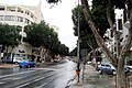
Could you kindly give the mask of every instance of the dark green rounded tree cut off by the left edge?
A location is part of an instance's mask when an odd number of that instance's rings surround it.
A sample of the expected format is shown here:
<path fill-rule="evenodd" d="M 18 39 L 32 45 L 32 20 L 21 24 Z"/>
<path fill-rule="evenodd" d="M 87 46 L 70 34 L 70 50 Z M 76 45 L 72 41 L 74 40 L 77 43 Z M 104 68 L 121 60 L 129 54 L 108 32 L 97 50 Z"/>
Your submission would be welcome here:
<path fill-rule="evenodd" d="M 0 45 L 2 45 L 2 51 L 6 50 L 6 53 L 11 53 L 8 51 L 19 45 L 19 40 L 21 35 L 19 35 L 19 26 L 9 25 L 9 24 L 0 24 Z"/>

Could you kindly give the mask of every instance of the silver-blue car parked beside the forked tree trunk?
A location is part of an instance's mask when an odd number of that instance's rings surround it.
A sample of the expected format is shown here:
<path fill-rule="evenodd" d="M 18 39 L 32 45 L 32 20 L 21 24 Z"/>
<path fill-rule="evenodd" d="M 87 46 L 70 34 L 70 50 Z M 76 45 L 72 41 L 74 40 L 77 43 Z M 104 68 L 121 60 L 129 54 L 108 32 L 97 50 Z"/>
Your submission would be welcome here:
<path fill-rule="evenodd" d="M 97 70 L 99 74 L 116 75 L 116 68 L 111 64 L 100 64 Z"/>

